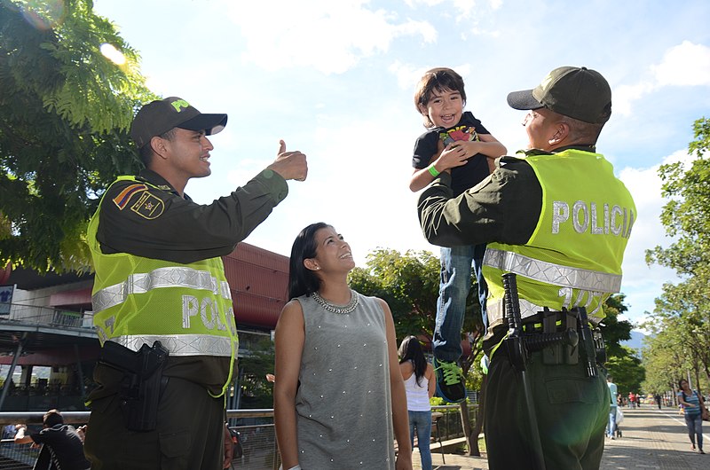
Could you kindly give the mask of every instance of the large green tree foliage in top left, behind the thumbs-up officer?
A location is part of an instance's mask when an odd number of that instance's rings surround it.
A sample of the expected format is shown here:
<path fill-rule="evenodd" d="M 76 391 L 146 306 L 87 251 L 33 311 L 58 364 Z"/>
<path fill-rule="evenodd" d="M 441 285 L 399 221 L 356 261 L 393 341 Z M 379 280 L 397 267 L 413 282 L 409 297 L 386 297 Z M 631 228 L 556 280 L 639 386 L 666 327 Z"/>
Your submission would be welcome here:
<path fill-rule="evenodd" d="M 136 51 L 92 6 L 0 0 L 1 266 L 84 268 L 100 193 L 139 167 L 128 129 L 155 97 Z M 107 59 L 102 44 L 125 62 Z"/>

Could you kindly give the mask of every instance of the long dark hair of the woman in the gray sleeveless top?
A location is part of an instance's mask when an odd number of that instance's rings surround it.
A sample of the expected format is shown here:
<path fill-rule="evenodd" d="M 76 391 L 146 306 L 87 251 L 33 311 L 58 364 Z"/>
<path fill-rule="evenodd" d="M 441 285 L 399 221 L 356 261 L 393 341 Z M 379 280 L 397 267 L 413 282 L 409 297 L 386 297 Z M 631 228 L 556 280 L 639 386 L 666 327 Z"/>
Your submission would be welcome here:
<path fill-rule="evenodd" d="M 312 223 L 296 237 L 288 262 L 289 299 L 318 291 L 320 278 L 312 270 L 306 269 L 304 260 L 316 256 L 316 232 L 330 226 L 324 222 Z"/>

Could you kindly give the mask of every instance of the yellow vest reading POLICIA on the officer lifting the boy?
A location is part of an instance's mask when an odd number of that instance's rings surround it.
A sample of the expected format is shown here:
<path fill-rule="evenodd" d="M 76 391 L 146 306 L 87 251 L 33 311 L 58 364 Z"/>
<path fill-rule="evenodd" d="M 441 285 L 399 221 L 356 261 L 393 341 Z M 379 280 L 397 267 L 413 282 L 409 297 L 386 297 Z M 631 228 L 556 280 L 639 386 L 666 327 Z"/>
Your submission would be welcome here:
<path fill-rule="evenodd" d="M 576 149 L 525 157 L 542 187 L 542 209 L 525 245 L 491 243 L 483 272 L 489 325 L 502 322 L 501 274 L 517 274 L 522 317 L 543 307 L 585 306 L 591 321 L 621 286 L 621 262 L 636 218 L 626 186 L 604 156 Z"/>

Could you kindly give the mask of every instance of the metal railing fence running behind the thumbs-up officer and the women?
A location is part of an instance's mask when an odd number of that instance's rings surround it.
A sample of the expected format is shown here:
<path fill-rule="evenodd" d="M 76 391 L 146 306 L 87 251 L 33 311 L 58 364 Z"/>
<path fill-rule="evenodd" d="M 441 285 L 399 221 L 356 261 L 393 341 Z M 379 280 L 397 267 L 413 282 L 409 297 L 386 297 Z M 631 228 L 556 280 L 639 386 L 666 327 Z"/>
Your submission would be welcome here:
<path fill-rule="evenodd" d="M 469 405 L 471 423 L 476 418 L 477 405 Z M 446 405 L 432 407 L 443 416 L 438 419 L 441 439 L 446 441 L 461 437 L 461 415 L 459 406 Z M 3 411 L 0 412 L 0 427 L 25 423 L 42 426 L 43 411 Z M 89 420 L 89 411 L 63 411 L 62 417 L 67 424 L 85 424 Z M 276 432 L 273 426 L 273 410 L 228 410 L 229 427 L 235 433 L 233 470 L 276 470 L 280 466 L 279 451 L 276 445 Z M 8 429 L 9 431 L 9 429 Z M 39 449 L 32 444 L 16 444 L 4 433 L 0 441 L 0 470 L 26 470 L 34 466 Z"/>

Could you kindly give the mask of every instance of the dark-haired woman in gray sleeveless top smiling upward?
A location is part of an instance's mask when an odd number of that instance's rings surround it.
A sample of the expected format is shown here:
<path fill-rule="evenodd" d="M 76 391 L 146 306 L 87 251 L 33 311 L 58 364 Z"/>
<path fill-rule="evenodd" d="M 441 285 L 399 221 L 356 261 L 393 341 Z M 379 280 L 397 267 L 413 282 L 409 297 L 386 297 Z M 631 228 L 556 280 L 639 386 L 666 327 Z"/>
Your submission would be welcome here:
<path fill-rule="evenodd" d="M 351 290 L 354 267 L 350 246 L 326 223 L 306 227 L 291 249 L 273 391 L 285 469 L 412 468 L 390 308 Z"/>

